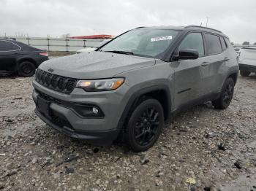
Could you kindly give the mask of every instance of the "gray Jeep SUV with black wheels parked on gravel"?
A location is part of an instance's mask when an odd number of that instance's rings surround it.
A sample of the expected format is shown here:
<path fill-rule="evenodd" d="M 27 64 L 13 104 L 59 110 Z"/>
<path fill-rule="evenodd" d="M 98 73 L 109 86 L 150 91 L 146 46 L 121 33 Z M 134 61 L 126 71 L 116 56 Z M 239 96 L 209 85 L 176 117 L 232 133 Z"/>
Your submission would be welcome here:
<path fill-rule="evenodd" d="M 141 152 L 182 109 L 204 101 L 226 109 L 237 77 L 236 52 L 222 32 L 140 27 L 95 52 L 45 61 L 33 98 L 36 114 L 62 133 L 97 144 L 120 138 Z"/>

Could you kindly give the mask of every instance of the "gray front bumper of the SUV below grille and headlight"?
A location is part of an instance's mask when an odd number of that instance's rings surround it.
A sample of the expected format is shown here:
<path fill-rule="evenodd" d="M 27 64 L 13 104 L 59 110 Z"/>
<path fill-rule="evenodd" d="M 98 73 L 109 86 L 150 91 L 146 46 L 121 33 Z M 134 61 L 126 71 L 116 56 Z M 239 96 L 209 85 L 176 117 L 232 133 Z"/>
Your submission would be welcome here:
<path fill-rule="evenodd" d="M 118 122 L 124 107 L 127 104 L 124 99 L 127 87 L 123 85 L 116 91 L 86 93 L 82 89 L 75 88 L 69 95 L 50 90 L 47 87 L 33 82 L 33 99 L 37 106 L 37 96 L 50 97 L 50 114 L 45 114 L 42 109 L 35 109 L 37 116 L 52 128 L 59 130 L 77 139 L 86 139 L 95 144 L 109 144 L 113 142 L 120 131 Z M 84 117 L 73 109 L 76 104 L 95 105 L 102 110 L 103 117 Z"/>

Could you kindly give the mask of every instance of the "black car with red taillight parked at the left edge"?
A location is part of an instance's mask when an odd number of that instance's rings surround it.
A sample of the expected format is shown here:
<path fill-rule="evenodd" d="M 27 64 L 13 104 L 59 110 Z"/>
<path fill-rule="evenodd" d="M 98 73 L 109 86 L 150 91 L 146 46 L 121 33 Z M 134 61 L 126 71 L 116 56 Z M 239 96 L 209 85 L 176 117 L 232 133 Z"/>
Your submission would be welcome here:
<path fill-rule="evenodd" d="M 37 67 L 48 60 L 48 52 L 13 39 L 0 39 L 0 74 L 34 75 Z"/>

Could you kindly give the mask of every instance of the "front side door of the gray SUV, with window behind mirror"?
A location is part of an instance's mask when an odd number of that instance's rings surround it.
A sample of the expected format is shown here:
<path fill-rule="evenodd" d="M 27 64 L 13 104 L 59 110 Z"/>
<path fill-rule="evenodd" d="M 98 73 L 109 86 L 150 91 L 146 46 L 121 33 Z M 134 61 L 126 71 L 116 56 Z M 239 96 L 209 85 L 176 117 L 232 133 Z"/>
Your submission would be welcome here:
<path fill-rule="evenodd" d="M 174 107 L 178 109 L 198 100 L 203 96 L 201 64 L 206 62 L 203 34 L 190 32 L 179 44 L 176 52 L 184 49 L 194 49 L 199 53 L 196 60 L 183 60 L 172 63 L 175 71 Z"/>

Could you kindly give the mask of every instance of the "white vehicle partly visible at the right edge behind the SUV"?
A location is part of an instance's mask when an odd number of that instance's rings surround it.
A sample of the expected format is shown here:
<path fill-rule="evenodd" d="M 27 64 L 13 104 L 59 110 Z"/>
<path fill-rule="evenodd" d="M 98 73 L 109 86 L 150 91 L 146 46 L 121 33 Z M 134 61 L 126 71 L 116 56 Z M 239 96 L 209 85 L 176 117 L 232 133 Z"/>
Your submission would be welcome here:
<path fill-rule="evenodd" d="M 242 77 L 248 77 L 251 72 L 256 72 L 256 47 L 241 48 L 238 63 Z"/>

